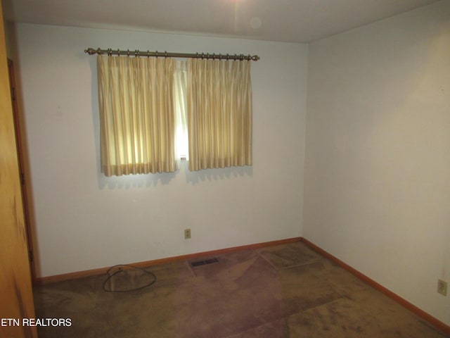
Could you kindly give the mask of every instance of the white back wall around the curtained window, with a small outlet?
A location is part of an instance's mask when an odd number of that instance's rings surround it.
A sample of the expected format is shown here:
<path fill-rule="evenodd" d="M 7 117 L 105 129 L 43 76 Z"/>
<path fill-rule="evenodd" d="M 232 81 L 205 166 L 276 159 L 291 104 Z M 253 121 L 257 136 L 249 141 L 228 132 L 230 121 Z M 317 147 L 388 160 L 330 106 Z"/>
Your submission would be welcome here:
<path fill-rule="evenodd" d="M 306 45 L 25 24 L 14 34 L 39 275 L 300 236 Z M 258 54 L 252 167 L 103 177 L 96 58 L 84 54 L 98 46 Z"/>

